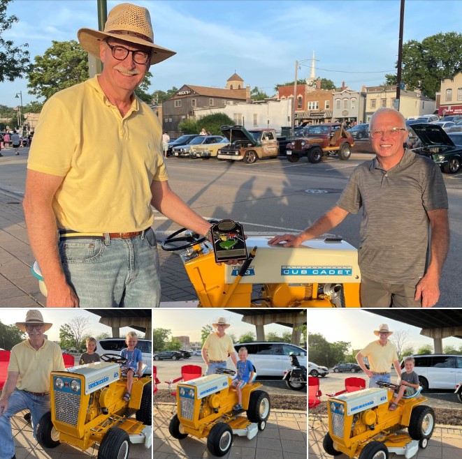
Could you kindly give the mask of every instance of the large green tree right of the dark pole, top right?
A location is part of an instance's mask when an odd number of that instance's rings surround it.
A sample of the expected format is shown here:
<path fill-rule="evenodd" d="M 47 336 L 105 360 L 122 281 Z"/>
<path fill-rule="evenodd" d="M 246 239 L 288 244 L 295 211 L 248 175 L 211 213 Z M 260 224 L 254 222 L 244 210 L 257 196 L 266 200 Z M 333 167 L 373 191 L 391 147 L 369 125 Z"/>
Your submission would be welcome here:
<path fill-rule="evenodd" d="M 409 40 L 403 45 L 401 80 L 406 89 L 420 89 L 435 98 L 441 80 L 462 70 L 462 33 L 446 32 Z M 396 75 L 385 75 L 387 84 L 396 83 Z"/>

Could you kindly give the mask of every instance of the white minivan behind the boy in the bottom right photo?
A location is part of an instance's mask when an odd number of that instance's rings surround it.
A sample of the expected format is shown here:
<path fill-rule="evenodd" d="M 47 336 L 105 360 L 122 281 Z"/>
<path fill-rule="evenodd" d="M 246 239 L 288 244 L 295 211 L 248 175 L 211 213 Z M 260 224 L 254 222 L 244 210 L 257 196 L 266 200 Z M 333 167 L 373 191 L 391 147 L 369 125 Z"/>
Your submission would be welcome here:
<path fill-rule="evenodd" d="M 456 354 L 413 355 L 414 372 L 427 389 L 452 389 L 462 382 L 462 356 Z M 405 358 L 404 358 L 405 359 Z M 404 368 L 404 359 L 401 368 Z"/>

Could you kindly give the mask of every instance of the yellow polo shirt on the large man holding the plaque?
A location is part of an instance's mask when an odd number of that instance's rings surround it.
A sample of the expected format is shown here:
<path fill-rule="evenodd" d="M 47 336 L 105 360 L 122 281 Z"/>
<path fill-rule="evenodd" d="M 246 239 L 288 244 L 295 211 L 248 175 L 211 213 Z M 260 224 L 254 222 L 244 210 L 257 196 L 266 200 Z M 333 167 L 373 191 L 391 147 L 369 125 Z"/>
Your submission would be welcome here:
<path fill-rule="evenodd" d="M 43 106 L 27 168 L 64 177 L 52 206 L 59 228 L 133 232 L 154 222 L 153 180 L 168 179 L 159 119 L 138 98 L 122 118 L 97 76 Z"/>

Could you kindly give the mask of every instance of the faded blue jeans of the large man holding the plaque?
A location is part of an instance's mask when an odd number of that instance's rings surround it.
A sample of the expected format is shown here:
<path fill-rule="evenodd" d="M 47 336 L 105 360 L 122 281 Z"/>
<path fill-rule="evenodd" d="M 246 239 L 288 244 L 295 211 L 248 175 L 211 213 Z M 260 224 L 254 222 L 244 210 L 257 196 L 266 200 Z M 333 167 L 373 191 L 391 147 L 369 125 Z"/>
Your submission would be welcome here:
<path fill-rule="evenodd" d="M 80 308 L 159 307 L 159 254 L 151 228 L 131 239 L 62 239 L 59 255 Z"/>

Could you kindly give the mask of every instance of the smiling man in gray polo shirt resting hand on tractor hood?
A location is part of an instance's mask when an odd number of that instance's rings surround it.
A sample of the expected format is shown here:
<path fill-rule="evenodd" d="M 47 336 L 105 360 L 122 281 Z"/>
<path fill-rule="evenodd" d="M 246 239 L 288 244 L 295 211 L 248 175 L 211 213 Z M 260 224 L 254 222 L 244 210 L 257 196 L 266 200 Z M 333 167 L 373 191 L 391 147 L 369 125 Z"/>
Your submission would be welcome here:
<path fill-rule="evenodd" d="M 268 243 L 297 246 L 329 232 L 362 207 L 361 306 L 430 308 L 440 296 L 449 246 L 441 171 L 430 158 L 404 149 L 407 130 L 397 110 L 377 110 L 369 128 L 377 156 L 356 167 L 333 209 L 300 234 L 276 236 Z"/>

